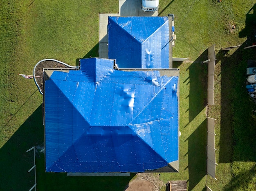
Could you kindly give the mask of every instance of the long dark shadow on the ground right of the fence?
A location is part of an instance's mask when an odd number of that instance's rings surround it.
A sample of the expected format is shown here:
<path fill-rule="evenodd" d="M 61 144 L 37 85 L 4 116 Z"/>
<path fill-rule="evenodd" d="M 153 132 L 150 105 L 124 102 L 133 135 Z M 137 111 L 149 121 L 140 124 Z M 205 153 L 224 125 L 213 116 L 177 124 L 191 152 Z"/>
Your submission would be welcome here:
<path fill-rule="evenodd" d="M 256 5 L 247 13 L 245 29 L 239 33 L 247 40 L 232 54 L 220 50 L 216 55 L 217 62 L 222 63 L 221 73 L 217 74 L 221 75 L 219 163 L 256 161 L 255 105 L 245 88 L 247 60 L 256 59 L 256 48 L 244 49 L 255 40 L 255 10 Z"/>

